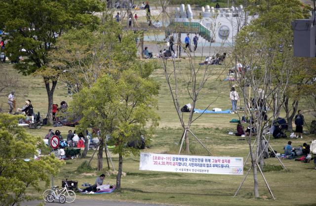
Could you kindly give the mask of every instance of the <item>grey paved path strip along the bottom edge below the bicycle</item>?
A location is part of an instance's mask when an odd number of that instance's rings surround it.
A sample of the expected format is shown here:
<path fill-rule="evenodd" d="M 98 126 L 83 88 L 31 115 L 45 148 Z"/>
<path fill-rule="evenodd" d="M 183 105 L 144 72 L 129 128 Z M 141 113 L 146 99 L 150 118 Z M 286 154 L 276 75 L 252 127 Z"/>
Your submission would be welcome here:
<path fill-rule="evenodd" d="M 32 201 L 22 203 L 21 206 L 37 206 L 39 203 L 44 201 Z M 71 204 L 73 206 L 163 206 L 163 205 L 153 205 L 153 204 L 141 204 L 141 203 L 124 203 L 124 202 L 114 202 L 114 201 L 99 201 L 99 200 L 82 200 L 76 199 L 73 203 L 65 203 L 67 205 Z M 53 203 L 45 203 L 45 206 L 60 206 L 58 200 Z"/>

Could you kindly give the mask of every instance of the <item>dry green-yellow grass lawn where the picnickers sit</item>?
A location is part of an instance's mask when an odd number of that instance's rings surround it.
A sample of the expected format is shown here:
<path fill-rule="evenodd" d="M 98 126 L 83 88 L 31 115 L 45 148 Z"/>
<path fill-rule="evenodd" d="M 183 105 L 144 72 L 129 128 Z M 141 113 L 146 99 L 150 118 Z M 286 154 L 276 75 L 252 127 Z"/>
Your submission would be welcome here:
<path fill-rule="evenodd" d="M 183 63 L 186 60 L 180 60 Z M 168 64 L 171 69 L 171 61 Z M 4 64 L 4 69 L 9 70 L 12 75 L 19 75 L 12 66 L 8 63 Z M 209 110 L 215 107 L 222 110 L 231 109 L 232 105 L 229 102 L 230 84 L 229 82 L 221 82 L 224 79 L 222 75 L 218 81 L 215 81 L 223 70 L 222 66 L 217 66 L 214 70 L 214 76 L 211 77 L 206 88 L 213 88 L 215 85 L 220 84 L 217 89 L 205 95 L 200 101 L 197 102 L 197 109 L 205 109 L 205 107 L 212 102 L 217 96 L 217 100 L 210 106 Z M 156 134 L 153 138 L 153 142 L 150 149 L 145 149 L 142 152 L 146 153 L 164 153 L 166 151 L 176 151 L 178 146 L 174 143 L 179 143 L 183 129 L 179 122 L 178 116 L 174 110 L 172 98 L 168 85 L 165 81 L 164 73 L 162 69 L 158 69 L 152 76 L 156 81 L 161 82 L 161 89 L 158 96 L 159 110 L 158 114 L 161 117 L 160 125 L 156 130 Z M 47 113 L 47 95 L 42 79 L 33 77 L 22 77 L 21 79 L 28 82 L 29 94 L 28 96 L 19 96 L 17 107 L 22 107 L 26 99 L 32 101 L 34 106 L 34 112 L 40 111 L 42 115 Z M 234 84 L 234 83 L 233 83 Z M 19 91 L 16 90 L 19 94 Z M 191 103 L 189 96 L 183 89 L 183 97 L 181 101 L 184 104 Z M 71 95 L 67 94 L 67 88 L 58 83 L 54 93 L 54 103 L 60 105 L 61 101 L 69 103 L 72 100 Z M 239 106 L 240 107 L 240 106 Z M 8 109 L 8 105 L 5 109 Z M 304 102 L 300 102 L 299 108 L 301 110 L 306 109 Z M 195 114 L 195 118 L 198 114 Z M 45 115 L 44 115 L 45 116 Z M 183 114 L 187 119 L 188 114 Z M 285 113 L 282 111 L 280 117 L 284 117 Z M 304 114 L 305 120 L 308 124 L 311 123 L 313 117 Z M 230 131 L 236 132 L 235 123 L 229 123 L 233 118 L 237 119 L 237 114 L 204 114 L 191 126 L 191 130 L 200 139 L 200 141 L 216 156 L 230 156 L 230 157 L 243 157 L 246 159 L 249 146 L 246 141 L 238 141 L 239 137 L 228 135 Z M 244 124 L 246 126 L 247 124 Z M 28 130 L 34 135 L 40 135 L 44 137 L 48 129 L 58 129 L 62 132 L 64 138 L 66 138 L 69 129 L 74 127 L 62 126 L 52 127 L 43 126 L 40 129 Z M 308 131 L 304 128 L 304 131 Z M 287 133 L 289 137 L 289 132 Z M 206 139 L 205 137 L 209 137 Z M 297 147 L 304 142 L 309 143 L 315 138 L 315 135 L 304 134 L 301 138 L 286 138 L 286 139 L 272 139 L 270 144 L 274 150 L 278 153 L 284 153 L 283 147 L 287 144 L 287 141 L 291 140 L 292 145 Z M 197 140 L 191 135 L 190 146 L 192 151 L 196 155 L 207 155 L 205 149 L 203 149 L 197 142 Z M 111 151 L 111 149 L 110 149 Z M 48 152 L 48 150 L 44 151 Z M 88 156 L 91 157 L 93 151 L 88 152 Z M 118 155 L 111 157 L 114 166 L 118 168 Z M 77 171 L 79 164 L 86 159 L 74 159 L 68 160 L 66 165 L 61 169 L 59 175 L 54 178 L 54 184 L 61 186 L 61 180 L 65 175 L 68 175 L 70 179 L 79 181 L 79 185 L 83 182 L 94 183 L 95 178 L 107 170 L 107 162 L 104 154 L 103 165 L 104 171 L 90 172 L 91 174 L 80 173 Z M 265 160 L 268 165 L 280 165 L 276 158 L 269 158 Z M 264 172 L 269 186 L 276 198 L 276 201 L 272 199 L 264 180 L 261 175 L 258 174 L 259 179 L 259 194 L 261 198 L 253 198 L 253 174 L 249 173 L 246 181 L 239 190 L 237 198 L 233 198 L 239 184 L 241 183 L 243 176 L 237 175 L 218 175 L 218 174 L 193 174 L 193 173 L 170 173 L 170 172 L 158 172 L 158 171 L 143 171 L 139 170 L 139 157 L 124 157 L 123 158 L 123 171 L 126 172 L 126 176 L 121 179 L 121 190 L 115 190 L 111 194 L 99 194 L 99 195 L 82 195 L 77 193 L 78 199 L 90 199 L 90 200 L 107 200 L 107 201 L 119 201 L 119 202 L 134 202 L 134 203 L 146 203 L 146 204 L 162 204 L 162 205 L 185 205 L 185 206 L 209 206 L 209 205 L 304 205 L 312 206 L 316 205 L 315 199 L 315 182 L 316 182 L 316 170 L 314 164 L 304 164 L 302 162 L 296 162 L 294 160 L 282 160 L 282 163 L 286 166 L 288 171 L 269 171 Z M 97 166 L 97 157 L 93 158 L 91 165 L 93 168 Z M 110 163 L 111 165 L 111 163 Z M 250 167 L 250 163 L 246 164 L 244 170 Z M 105 180 L 110 181 L 110 184 L 116 184 L 116 176 L 109 175 Z M 81 186 L 80 186 L 81 187 Z M 42 185 L 43 191 L 47 188 Z M 35 194 L 29 190 L 28 193 Z"/>

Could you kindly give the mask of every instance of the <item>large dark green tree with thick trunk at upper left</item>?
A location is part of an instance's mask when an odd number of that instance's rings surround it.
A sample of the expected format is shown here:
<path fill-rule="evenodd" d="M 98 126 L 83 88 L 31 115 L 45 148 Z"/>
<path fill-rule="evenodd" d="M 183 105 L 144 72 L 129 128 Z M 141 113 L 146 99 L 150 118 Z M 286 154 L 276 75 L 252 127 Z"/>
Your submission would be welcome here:
<path fill-rule="evenodd" d="M 14 68 L 23 75 L 43 78 L 48 96 L 48 120 L 52 123 L 53 94 L 59 71 L 47 69 L 48 52 L 62 35 L 72 28 L 88 25 L 95 29 L 100 23 L 94 12 L 103 11 L 106 4 L 99 0 L 2 0 L 0 28 L 9 35 L 5 51 L 10 59 L 28 56 Z M 26 51 L 22 51 L 24 48 Z"/>

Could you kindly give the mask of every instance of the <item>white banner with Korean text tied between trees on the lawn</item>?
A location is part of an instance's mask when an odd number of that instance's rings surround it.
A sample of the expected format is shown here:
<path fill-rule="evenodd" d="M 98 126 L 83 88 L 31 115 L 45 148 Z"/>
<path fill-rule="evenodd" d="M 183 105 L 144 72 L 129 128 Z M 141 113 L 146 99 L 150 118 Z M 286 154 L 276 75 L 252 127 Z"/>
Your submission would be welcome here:
<path fill-rule="evenodd" d="M 140 153 L 139 170 L 243 175 L 243 158 Z"/>

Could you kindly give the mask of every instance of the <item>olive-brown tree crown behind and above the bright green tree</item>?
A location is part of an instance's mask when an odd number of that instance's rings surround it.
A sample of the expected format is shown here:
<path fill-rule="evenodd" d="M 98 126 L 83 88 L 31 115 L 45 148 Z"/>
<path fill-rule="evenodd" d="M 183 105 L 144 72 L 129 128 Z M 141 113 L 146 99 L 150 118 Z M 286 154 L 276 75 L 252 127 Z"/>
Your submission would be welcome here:
<path fill-rule="evenodd" d="M 79 93 L 83 87 L 91 87 L 104 74 L 117 76 L 121 70 L 130 68 L 136 58 L 135 39 L 139 34 L 123 34 L 111 12 L 103 18 L 105 21 L 97 30 L 70 30 L 57 40 L 57 49 L 49 53 L 49 67 L 63 71 L 55 78 L 73 93 Z M 87 151 L 88 141 L 85 141 L 82 157 Z"/>

